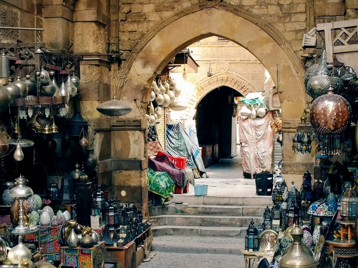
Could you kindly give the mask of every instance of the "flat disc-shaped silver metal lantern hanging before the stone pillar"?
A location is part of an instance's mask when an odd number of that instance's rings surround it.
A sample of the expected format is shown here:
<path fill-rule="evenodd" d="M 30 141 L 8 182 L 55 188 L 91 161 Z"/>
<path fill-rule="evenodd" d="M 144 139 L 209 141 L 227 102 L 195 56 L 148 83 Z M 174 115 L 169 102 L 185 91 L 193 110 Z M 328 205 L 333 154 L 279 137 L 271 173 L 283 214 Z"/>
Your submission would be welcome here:
<path fill-rule="evenodd" d="M 132 110 L 133 107 L 126 97 L 117 100 L 117 97 L 114 96 L 112 100 L 107 100 L 97 106 L 97 111 L 108 116 L 123 116 L 129 114 Z"/>

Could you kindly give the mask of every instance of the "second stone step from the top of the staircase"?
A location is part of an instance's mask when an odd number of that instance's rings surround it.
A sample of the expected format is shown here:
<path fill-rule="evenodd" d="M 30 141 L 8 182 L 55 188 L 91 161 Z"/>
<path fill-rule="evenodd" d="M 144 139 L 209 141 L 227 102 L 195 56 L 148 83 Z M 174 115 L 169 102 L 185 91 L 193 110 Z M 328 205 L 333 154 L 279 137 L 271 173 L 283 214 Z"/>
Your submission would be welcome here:
<path fill-rule="evenodd" d="M 149 215 L 183 214 L 183 215 L 226 215 L 226 216 L 262 216 L 266 206 L 230 206 L 170 204 L 149 207 Z"/>

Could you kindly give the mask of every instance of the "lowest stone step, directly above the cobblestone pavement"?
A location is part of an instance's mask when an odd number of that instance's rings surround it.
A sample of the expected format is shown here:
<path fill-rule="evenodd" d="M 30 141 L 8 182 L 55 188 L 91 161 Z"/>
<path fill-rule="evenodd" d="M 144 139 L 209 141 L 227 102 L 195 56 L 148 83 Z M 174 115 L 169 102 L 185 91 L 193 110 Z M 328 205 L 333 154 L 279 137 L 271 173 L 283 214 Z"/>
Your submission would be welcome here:
<path fill-rule="evenodd" d="M 173 253 L 210 253 L 243 255 L 245 238 L 238 237 L 201 237 L 172 236 L 156 237 L 152 243 L 152 251 Z"/>

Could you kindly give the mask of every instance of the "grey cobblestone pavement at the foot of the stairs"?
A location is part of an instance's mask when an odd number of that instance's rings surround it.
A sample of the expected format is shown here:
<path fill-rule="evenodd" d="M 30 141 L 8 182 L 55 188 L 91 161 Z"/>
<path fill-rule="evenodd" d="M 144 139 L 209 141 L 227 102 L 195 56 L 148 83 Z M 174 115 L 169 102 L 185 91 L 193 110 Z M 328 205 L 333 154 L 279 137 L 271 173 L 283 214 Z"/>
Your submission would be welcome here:
<path fill-rule="evenodd" d="M 243 255 L 157 252 L 140 268 L 243 268 Z"/>

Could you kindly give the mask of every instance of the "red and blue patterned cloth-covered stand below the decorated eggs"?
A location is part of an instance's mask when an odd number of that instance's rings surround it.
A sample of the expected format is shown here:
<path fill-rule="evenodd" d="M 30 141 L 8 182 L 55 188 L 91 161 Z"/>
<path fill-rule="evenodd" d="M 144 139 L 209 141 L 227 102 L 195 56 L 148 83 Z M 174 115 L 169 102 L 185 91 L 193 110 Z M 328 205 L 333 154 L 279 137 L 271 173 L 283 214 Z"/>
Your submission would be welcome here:
<path fill-rule="evenodd" d="M 47 256 L 49 260 L 60 260 L 61 245 L 58 242 L 59 226 L 39 226 L 39 229 L 44 256 Z M 25 241 L 38 242 L 37 234 L 26 234 Z"/>

